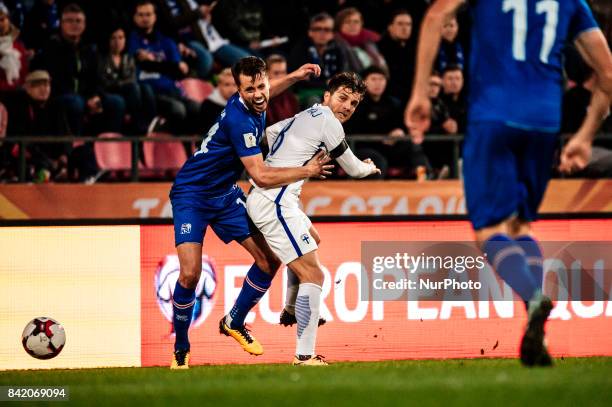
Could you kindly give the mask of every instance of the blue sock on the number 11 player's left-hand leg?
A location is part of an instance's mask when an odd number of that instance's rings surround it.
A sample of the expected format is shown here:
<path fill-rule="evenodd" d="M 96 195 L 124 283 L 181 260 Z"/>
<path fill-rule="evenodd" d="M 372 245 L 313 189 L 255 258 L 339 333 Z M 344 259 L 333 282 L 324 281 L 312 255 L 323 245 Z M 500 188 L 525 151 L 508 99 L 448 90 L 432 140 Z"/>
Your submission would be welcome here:
<path fill-rule="evenodd" d="M 541 283 L 536 283 L 531 274 L 527 265 L 527 256 L 521 244 L 508 235 L 496 234 L 483 244 L 482 249 L 497 274 L 527 304 Z"/>

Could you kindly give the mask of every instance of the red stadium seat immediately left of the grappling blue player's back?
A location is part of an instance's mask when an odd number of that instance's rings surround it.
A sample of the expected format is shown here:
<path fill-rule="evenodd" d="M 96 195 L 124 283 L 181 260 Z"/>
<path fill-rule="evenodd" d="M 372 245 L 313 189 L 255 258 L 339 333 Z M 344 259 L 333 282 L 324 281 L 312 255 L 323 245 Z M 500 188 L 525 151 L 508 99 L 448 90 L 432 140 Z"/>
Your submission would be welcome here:
<path fill-rule="evenodd" d="M 169 141 L 145 141 L 142 143 L 146 169 L 156 172 L 178 171 L 187 161 L 183 143 L 173 140 L 170 134 L 150 133 L 148 137 L 165 138 Z"/>

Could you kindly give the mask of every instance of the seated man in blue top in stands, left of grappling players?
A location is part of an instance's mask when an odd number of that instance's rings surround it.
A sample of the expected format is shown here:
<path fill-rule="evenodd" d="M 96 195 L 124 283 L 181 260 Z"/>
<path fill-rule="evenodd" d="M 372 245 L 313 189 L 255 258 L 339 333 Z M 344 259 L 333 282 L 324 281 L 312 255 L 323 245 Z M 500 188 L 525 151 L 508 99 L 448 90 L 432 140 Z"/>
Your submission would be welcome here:
<path fill-rule="evenodd" d="M 189 72 L 189 67 L 181 61 L 176 43 L 155 29 L 156 21 L 153 2 L 139 1 L 134 12 L 136 28 L 128 41 L 128 51 L 136 59 L 137 78 L 155 92 L 157 111 L 168 119 L 171 131 L 197 132 L 200 105 L 186 98 L 176 82 Z"/>

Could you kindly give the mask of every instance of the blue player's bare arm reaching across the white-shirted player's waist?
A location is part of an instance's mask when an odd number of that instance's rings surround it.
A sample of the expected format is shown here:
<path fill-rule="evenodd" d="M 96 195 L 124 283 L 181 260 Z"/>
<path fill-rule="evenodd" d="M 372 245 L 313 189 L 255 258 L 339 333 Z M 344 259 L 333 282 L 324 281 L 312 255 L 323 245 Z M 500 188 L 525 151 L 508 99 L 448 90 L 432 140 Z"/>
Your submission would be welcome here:
<path fill-rule="evenodd" d="M 306 178 L 325 179 L 331 174 L 332 164 L 324 151 L 320 151 L 302 167 L 268 167 L 261 154 L 241 157 L 242 163 L 255 184 L 261 188 L 274 188 L 288 185 Z"/>

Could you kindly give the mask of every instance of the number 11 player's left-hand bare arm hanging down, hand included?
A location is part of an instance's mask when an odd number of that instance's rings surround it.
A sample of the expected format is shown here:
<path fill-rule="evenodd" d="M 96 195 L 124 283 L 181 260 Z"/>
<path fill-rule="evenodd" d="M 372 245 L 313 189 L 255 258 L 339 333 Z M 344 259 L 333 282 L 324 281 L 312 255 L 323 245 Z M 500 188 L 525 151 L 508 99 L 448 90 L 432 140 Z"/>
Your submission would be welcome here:
<path fill-rule="evenodd" d="M 421 135 L 429 128 L 431 103 L 429 101 L 429 77 L 438 55 L 442 26 L 453 15 L 464 0 L 437 0 L 429 8 L 419 35 L 417 67 L 410 102 L 404 120 L 411 135 Z"/>

